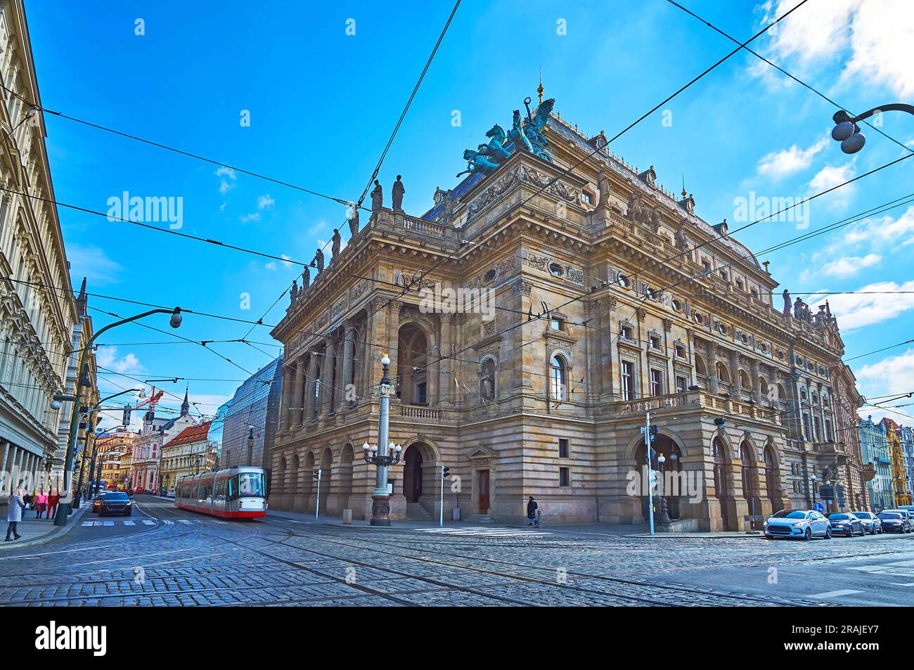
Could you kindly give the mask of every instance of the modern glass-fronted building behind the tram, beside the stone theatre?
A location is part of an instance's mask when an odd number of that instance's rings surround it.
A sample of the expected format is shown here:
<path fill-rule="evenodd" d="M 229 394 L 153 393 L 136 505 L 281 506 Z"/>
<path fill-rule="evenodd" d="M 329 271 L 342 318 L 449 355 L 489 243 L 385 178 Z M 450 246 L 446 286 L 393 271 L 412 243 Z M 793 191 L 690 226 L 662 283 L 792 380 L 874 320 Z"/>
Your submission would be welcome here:
<path fill-rule="evenodd" d="M 251 375 L 232 399 L 219 408 L 208 435 L 213 448 L 218 448 L 218 467 L 261 467 L 267 471 L 267 481 L 270 481 L 271 449 L 279 421 L 281 387 L 282 356 L 279 356 Z M 254 439 L 249 447 L 250 434 Z"/>

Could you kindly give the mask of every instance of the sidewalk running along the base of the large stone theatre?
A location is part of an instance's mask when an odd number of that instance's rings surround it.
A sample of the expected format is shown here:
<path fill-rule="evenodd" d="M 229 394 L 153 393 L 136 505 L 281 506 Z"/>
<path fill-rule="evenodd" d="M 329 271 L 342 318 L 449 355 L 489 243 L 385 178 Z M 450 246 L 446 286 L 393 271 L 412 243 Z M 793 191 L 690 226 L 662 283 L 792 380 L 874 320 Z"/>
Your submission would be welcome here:
<path fill-rule="evenodd" d="M 338 516 L 321 516 L 314 519 L 314 512 L 303 514 L 301 512 L 282 512 L 279 510 L 268 510 L 267 516 L 289 519 L 303 524 L 319 524 L 322 526 L 351 526 L 363 528 L 375 528 L 377 530 L 420 530 L 425 528 L 437 528 L 438 520 L 432 521 L 393 521 L 390 526 L 371 526 L 367 519 L 353 519 L 351 524 L 344 524 Z M 445 528 L 491 528 L 493 530 L 504 530 L 505 528 L 529 528 L 530 530 L 544 531 L 548 533 L 567 533 L 571 535 L 596 535 L 604 537 L 651 537 L 650 529 L 647 524 L 556 524 L 555 526 L 544 523 L 541 526 L 527 526 L 526 523 L 518 522 L 516 524 L 498 523 L 480 524 L 469 521 L 448 521 L 444 522 Z M 758 535 L 748 535 L 746 533 L 656 533 L 658 539 L 667 538 L 698 538 L 698 539 L 764 539 L 761 533 Z"/>

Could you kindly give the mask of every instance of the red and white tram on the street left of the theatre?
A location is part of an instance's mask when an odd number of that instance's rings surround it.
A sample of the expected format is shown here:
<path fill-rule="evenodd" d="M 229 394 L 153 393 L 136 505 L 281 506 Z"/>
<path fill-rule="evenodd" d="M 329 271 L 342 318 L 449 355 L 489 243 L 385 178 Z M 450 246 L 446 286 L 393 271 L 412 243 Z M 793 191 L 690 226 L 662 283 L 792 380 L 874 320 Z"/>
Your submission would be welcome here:
<path fill-rule="evenodd" d="M 267 512 L 267 477 L 260 468 L 186 474 L 175 486 L 175 507 L 226 518 L 256 518 Z"/>

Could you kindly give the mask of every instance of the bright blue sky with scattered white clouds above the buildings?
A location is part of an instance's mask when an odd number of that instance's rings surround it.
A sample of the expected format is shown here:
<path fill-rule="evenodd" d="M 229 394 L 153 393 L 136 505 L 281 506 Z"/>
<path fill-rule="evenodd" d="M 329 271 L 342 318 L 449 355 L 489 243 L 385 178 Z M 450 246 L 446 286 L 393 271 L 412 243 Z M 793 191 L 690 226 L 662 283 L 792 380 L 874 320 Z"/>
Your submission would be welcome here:
<path fill-rule="evenodd" d="M 781 16 L 796 2 L 683 4 L 744 40 L 770 22 L 766 16 Z M 27 1 L 48 109 L 346 199 L 367 183 L 451 9 L 447 2 L 395 9 L 369 2 Z M 134 34 L 138 18 L 142 36 Z M 355 20 L 354 36 L 346 35 L 348 19 Z M 526 96 L 536 96 L 540 67 L 546 95 L 557 99 L 563 119 L 611 137 L 735 46 L 664 0 L 464 0 L 381 169 L 386 198 L 401 174 L 407 211 L 430 207 L 435 187 L 452 186 L 463 169 L 462 150 L 494 122 L 505 126 Z M 777 34 L 752 46 L 851 111 L 914 102 L 914 10 L 904 0 L 809 0 Z M 240 123 L 244 110 L 250 127 Z M 459 126 L 452 124 L 455 110 Z M 642 169 L 654 165 L 658 181 L 674 192 L 685 177 L 699 216 L 739 226 L 735 198 L 805 197 L 906 153 L 865 129 L 864 150 L 842 154 L 828 139 L 834 111 L 742 52 L 611 150 Z M 298 261 L 310 261 L 315 246 L 344 224 L 344 207 L 331 201 L 248 175 L 217 174 L 214 165 L 45 118 L 61 202 L 106 211 L 108 199 L 123 191 L 181 197 L 182 231 Z M 914 118 L 889 112 L 880 122 L 884 132 L 914 146 Z M 806 229 L 796 221 L 767 222 L 738 238 L 752 250 L 773 246 L 914 192 L 912 175 L 914 159 L 814 201 Z M 830 297 L 847 356 L 910 337 L 914 293 L 899 292 L 914 292 L 907 262 L 914 208 L 908 207 L 760 256 L 794 294 L 879 291 Z M 88 276 L 90 292 L 256 320 L 301 271 L 66 208 L 59 214 L 73 282 Z M 347 237 L 345 225 L 341 232 Z M 250 294 L 250 309 L 242 308 L 242 293 Z M 265 321 L 277 323 L 287 303 L 283 298 Z M 137 311 L 99 298 L 90 304 L 122 315 Z M 99 327 L 112 317 L 95 312 L 93 318 Z M 168 329 L 166 317 L 145 323 Z M 179 333 L 214 340 L 247 331 L 244 324 L 188 316 Z M 214 413 L 247 375 L 200 346 L 136 344 L 170 339 L 123 326 L 102 338 L 117 346 L 101 348 L 101 364 L 140 378 L 212 379 L 189 384 L 198 408 Z M 271 341 L 267 328 L 250 339 Z M 243 344 L 210 348 L 251 372 L 279 352 Z M 870 397 L 914 390 L 914 347 L 858 358 L 852 367 Z M 103 388 L 133 384 L 105 379 Z M 185 383 L 164 388 L 183 395 Z"/>

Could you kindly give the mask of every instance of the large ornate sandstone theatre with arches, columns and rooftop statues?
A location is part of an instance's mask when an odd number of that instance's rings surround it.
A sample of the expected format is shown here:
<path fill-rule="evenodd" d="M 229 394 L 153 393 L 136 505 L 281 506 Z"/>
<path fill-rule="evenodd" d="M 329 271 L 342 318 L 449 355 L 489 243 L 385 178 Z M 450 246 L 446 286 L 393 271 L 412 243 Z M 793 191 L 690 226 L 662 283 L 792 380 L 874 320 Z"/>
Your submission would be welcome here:
<path fill-rule="evenodd" d="M 272 331 L 271 507 L 313 512 L 320 469 L 322 514 L 371 515 L 362 444 L 377 444 L 385 354 L 395 520 L 437 518 L 446 465 L 448 519 L 517 521 L 533 495 L 544 521 L 643 523 L 648 414 L 667 529 L 743 530 L 822 502 L 822 486 L 829 509 L 866 505 L 847 418 L 860 399 L 833 388 L 853 375 L 827 305 L 792 303 L 726 220 L 698 218 L 552 104 L 494 126 L 420 216 L 399 176 L 389 207 L 376 186 L 345 249 L 337 235 L 293 285 Z"/>

